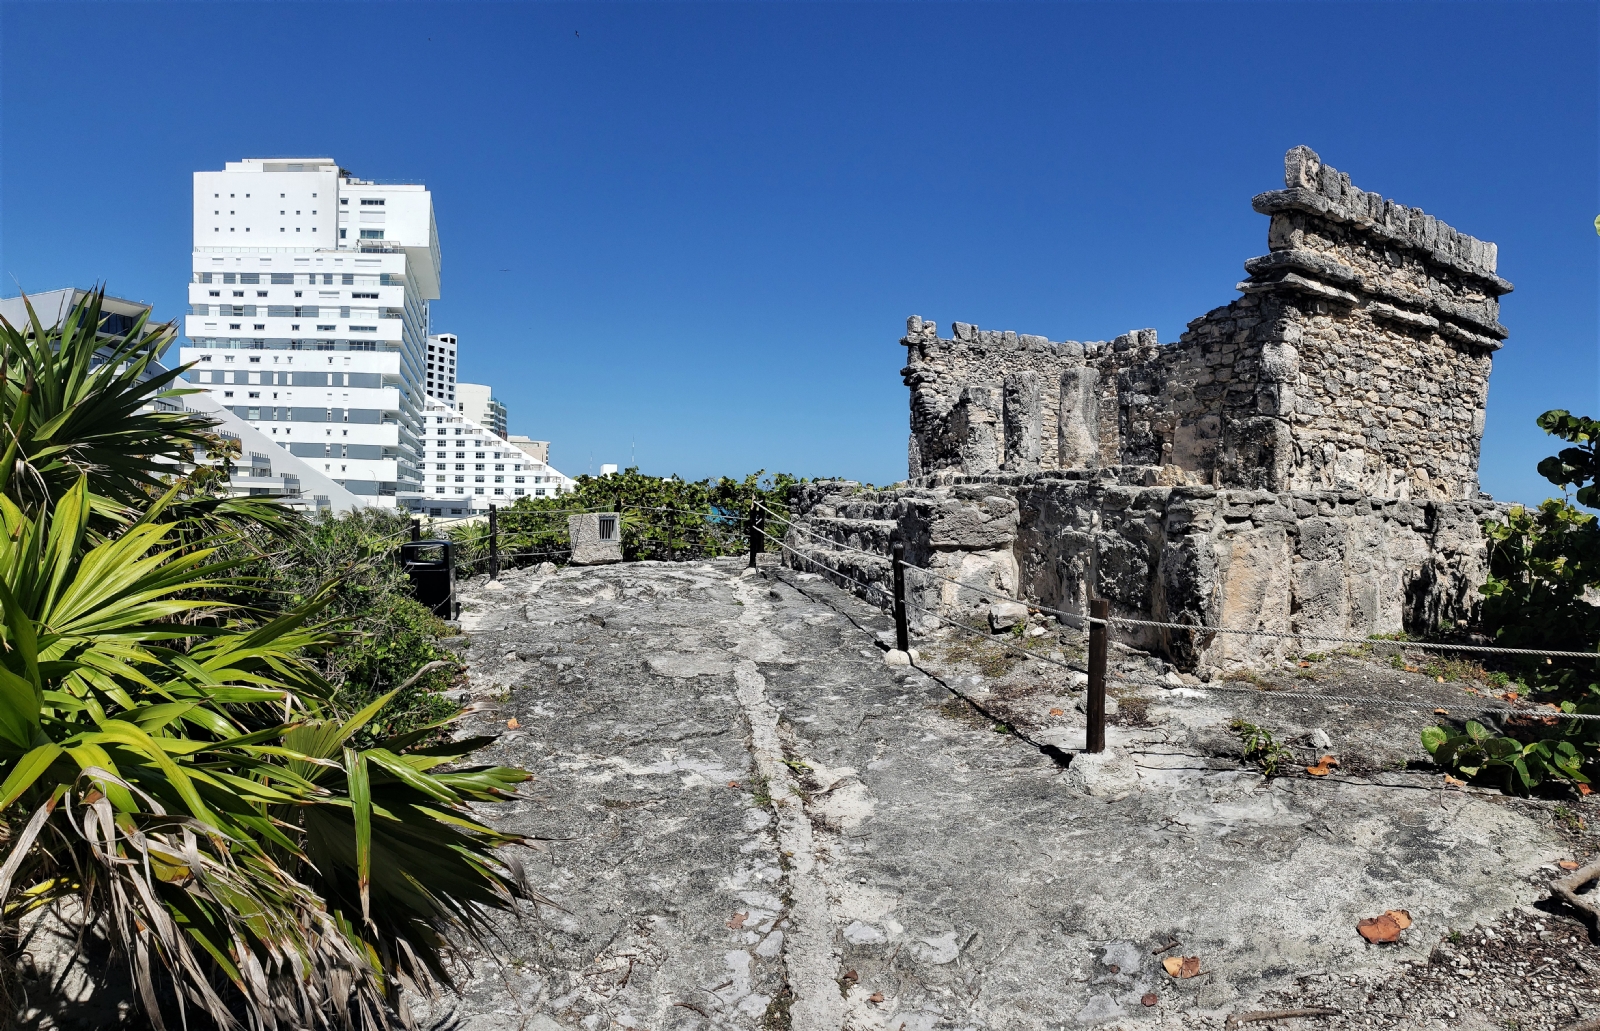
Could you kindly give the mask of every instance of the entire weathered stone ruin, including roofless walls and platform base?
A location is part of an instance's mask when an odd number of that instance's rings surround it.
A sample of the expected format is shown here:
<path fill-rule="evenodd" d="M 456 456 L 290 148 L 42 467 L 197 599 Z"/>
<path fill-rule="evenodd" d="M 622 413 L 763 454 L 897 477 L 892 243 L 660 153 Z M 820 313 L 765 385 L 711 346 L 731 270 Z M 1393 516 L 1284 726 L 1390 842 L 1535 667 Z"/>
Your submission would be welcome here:
<path fill-rule="evenodd" d="M 909 480 L 797 488 L 800 564 L 888 583 L 923 626 L 971 588 L 1086 612 L 1365 637 L 1466 620 L 1486 573 L 1478 491 L 1490 363 L 1507 336 L 1496 247 L 1368 194 L 1309 147 L 1259 194 L 1242 296 L 1114 341 L 906 323 Z M 843 548 L 840 548 L 843 546 Z M 869 556 L 848 549 L 862 549 Z M 1181 668 L 1314 640 L 1147 629 Z"/>

